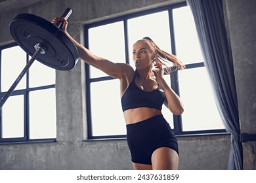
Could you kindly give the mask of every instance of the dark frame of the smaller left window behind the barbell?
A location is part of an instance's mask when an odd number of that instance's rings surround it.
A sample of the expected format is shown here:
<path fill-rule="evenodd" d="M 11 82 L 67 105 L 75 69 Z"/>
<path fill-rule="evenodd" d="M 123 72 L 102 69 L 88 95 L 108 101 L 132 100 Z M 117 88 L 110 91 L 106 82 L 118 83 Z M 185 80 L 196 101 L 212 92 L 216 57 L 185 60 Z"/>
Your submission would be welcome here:
<path fill-rule="evenodd" d="M 12 48 L 14 46 L 18 46 L 16 42 L 13 42 L 11 44 L 0 46 L 0 89 L 1 89 L 1 59 L 2 59 L 2 50 Z M 25 51 L 24 51 L 25 52 Z M 26 63 L 28 63 L 30 59 L 30 56 L 26 53 Z M 21 71 L 20 71 L 21 72 Z M 10 143 L 28 143 L 28 142 L 56 142 L 56 138 L 49 138 L 49 139 L 30 139 L 30 92 L 33 91 L 39 91 L 39 90 L 45 90 L 45 89 L 51 89 L 55 88 L 55 84 L 49 84 L 45 86 L 36 86 L 30 88 L 29 82 L 30 82 L 30 71 L 28 71 L 23 78 L 26 78 L 26 88 L 21 90 L 15 90 L 12 92 L 11 96 L 15 95 L 23 95 L 24 97 L 24 137 L 13 137 L 13 138 L 3 138 L 2 134 L 2 110 L 0 110 L 0 144 L 10 144 Z M 18 75 L 17 75 L 18 77 Z M 13 80 L 14 82 L 14 80 Z M 9 89 L 8 89 L 9 90 Z M 7 91 L 8 91 L 7 90 Z M 7 92 L 2 92 L 0 90 L 0 99 L 5 95 Z M 7 99 L 8 100 L 8 99 Z"/>

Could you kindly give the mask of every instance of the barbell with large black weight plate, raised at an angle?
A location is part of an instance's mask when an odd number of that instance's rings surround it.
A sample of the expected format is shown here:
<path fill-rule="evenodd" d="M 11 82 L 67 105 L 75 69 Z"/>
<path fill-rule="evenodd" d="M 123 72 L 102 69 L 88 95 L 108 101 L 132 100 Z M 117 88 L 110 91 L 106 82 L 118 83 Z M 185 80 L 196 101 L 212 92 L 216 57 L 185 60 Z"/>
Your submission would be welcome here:
<path fill-rule="evenodd" d="M 70 14 L 72 9 L 67 7 L 58 18 L 64 17 L 67 20 Z M 32 58 L 1 99 L 0 110 L 35 59 L 61 71 L 74 68 L 79 59 L 78 51 L 75 44 L 62 31 L 62 24 L 60 20 L 52 24 L 44 18 L 27 13 L 18 14 L 11 21 L 10 32 L 14 41 Z"/>

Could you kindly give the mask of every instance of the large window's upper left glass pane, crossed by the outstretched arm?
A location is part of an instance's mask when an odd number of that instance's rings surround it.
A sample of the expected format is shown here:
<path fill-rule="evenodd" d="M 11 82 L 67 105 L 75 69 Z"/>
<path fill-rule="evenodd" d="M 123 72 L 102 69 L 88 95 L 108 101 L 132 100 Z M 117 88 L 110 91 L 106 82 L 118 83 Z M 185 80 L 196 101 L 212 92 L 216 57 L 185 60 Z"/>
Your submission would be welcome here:
<path fill-rule="evenodd" d="M 89 29 L 89 50 L 96 56 L 112 62 L 125 63 L 125 39 L 123 22 L 101 25 Z M 90 77 L 107 76 L 90 66 Z"/>

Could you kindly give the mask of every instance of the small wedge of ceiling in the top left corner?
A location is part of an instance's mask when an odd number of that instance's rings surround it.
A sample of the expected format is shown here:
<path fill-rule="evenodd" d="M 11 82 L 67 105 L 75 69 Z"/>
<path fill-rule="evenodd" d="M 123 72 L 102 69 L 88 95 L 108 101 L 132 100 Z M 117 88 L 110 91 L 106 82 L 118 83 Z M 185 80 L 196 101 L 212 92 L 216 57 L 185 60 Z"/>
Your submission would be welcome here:
<path fill-rule="evenodd" d="M 43 0 L 0 0 L 0 12 L 26 7 Z"/>

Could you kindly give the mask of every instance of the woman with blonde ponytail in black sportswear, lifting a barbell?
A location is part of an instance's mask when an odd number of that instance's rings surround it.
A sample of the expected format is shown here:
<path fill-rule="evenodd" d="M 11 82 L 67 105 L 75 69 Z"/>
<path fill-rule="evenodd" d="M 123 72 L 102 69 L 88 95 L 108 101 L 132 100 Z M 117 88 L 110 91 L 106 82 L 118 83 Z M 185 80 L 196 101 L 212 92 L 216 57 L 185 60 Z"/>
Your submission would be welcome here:
<path fill-rule="evenodd" d="M 180 115 L 183 112 L 180 97 L 163 79 L 163 73 L 168 72 L 163 69 L 168 60 L 184 69 L 181 61 L 163 52 L 151 39 L 144 38 L 133 45 L 134 71 L 133 67 L 125 63 L 112 63 L 95 56 L 68 34 L 68 22 L 64 18 L 60 20 L 63 22 L 64 33 L 77 46 L 79 58 L 120 80 L 121 105 L 133 168 L 178 169 L 177 139 L 163 118 L 161 107 L 165 103 L 173 114 Z M 53 24 L 56 21 L 57 18 L 54 18 Z M 152 70 L 153 66 L 156 70 Z"/>

